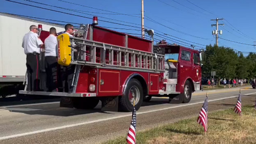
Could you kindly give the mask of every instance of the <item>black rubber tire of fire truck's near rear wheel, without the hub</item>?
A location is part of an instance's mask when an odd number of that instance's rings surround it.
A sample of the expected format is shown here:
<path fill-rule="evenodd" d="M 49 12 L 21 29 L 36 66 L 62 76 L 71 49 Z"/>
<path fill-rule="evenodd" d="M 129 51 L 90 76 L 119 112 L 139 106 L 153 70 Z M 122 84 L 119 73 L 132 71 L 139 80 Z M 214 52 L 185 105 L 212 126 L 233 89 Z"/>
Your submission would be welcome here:
<path fill-rule="evenodd" d="M 129 100 L 129 93 L 130 93 L 131 88 L 137 89 L 136 91 L 139 94 L 139 96 L 137 96 L 139 99 L 137 100 L 137 102 L 135 101 L 135 109 L 139 110 L 139 108 L 143 102 L 142 85 L 140 84 L 140 82 L 137 79 L 131 79 L 128 82 L 128 84 L 126 85 L 126 91 L 125 91 L 124 95 L 121 96 L 121 98 L 120 98 L 120 108 L 124 112 L 132 112 L 133 111 L 133 104 Z M 135 95 L 135 97 L 136 97 L 136 95 Z M 136 100 L 136 98 L 135 98 L 135 100 Z"/>

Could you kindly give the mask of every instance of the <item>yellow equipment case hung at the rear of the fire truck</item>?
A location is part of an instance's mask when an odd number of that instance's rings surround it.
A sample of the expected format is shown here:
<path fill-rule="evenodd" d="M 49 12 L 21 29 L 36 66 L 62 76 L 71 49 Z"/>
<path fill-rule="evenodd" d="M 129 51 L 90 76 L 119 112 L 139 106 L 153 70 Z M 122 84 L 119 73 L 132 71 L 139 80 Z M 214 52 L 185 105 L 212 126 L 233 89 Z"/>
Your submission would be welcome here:
<path fill-rule="evenodd" d="M 57 37 L 58 46 L 58 64 L 69 66 L 71 63 L 71 44 L 68 34 L 60 34 Z"/>

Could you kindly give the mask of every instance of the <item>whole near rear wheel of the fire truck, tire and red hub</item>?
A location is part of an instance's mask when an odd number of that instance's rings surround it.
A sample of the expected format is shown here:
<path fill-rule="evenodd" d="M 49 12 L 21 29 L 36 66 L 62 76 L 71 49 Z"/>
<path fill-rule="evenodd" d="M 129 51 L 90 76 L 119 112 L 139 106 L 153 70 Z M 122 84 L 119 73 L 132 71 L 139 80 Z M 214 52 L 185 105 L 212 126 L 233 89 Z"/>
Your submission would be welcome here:
<path fill-rule="evenodd" d="M 139 110 L 143 102 L 143 89 L 137 79 L 131 79 L 126 85 L 126 91 L 120 98 L 121 109 L 125 112 L 132 112 L 133 100 L 135 100 L 135 109 Z"/>

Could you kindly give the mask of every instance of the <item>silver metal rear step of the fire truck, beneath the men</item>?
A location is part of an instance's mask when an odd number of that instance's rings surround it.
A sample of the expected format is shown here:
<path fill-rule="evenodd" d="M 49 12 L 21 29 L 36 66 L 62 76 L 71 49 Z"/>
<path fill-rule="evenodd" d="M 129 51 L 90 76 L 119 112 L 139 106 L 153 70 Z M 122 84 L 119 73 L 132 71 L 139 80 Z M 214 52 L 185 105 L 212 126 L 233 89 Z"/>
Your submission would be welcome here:
<path fill-rule="evenodd" d="M 64 93 L 64 92 L 44 92 L 44 91 L 19 91 L 19 94 L 43 95 L 43 96 L 68 96 L 68 97 L 90 97 L 96 93 Z"/>

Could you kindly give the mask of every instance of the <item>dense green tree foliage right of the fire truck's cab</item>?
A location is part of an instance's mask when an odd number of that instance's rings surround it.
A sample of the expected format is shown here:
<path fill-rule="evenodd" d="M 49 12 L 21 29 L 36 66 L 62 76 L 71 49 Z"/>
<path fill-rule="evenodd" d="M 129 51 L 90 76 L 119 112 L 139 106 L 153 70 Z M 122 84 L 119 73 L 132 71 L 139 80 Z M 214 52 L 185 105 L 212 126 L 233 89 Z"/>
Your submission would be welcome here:
<path fill-rule="evenodd" d="M 206 46 L 203 53 L 202 76 L 211 77 L 211 71 L 216 71 L 217 78 L 255 78 L 256 54 L 249 53 L 245 57 L 232 48 Z"/>

